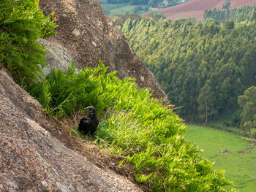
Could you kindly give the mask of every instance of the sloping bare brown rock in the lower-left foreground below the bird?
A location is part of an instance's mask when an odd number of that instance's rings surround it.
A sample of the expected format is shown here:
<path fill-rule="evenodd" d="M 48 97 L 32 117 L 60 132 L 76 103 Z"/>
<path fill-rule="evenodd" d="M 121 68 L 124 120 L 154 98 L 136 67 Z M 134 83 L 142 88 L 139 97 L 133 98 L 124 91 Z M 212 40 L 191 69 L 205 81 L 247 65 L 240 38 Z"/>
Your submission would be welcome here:
<path fill-rule="evenodd" d="M 64 129 L 0 69 L 0 191 L 141 191 L 65 147 L 47 129 L 67 142 Z M 75 145 L 74 139 L 68 142 Z"/>

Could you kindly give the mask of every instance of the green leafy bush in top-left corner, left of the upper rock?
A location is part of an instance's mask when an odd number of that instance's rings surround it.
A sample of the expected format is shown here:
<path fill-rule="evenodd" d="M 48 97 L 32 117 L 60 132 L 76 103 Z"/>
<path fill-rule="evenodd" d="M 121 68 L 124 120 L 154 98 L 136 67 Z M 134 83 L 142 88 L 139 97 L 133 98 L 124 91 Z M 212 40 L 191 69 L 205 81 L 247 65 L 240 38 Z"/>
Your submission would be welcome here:
<path fill-rule="evenodd" d="M 34 0 L 1 0 L 0 63 L 7 65 L 16 82 L 24 85 L 37 80 L 45 66 L 45 49 L 37 39 L 54 34 L 55 27 Z"/>

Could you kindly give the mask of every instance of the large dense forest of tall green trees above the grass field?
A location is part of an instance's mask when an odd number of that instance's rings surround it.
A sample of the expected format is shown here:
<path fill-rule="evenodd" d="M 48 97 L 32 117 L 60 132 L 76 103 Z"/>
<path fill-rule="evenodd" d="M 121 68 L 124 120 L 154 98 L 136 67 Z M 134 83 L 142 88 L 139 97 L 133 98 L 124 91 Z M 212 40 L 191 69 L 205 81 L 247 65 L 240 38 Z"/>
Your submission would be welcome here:
<path fill-rule="evenodd" d="M 121 30 L 188 121 L 238 108 L 256 83 L 256 23 L 128 19 Z"/>

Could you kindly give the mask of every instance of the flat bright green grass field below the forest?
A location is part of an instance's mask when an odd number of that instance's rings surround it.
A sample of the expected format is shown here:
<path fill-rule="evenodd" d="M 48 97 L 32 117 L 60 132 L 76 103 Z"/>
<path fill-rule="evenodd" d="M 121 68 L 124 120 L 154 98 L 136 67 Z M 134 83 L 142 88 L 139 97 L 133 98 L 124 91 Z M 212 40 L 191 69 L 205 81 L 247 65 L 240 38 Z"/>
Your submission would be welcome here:
<path fill-rule="evenodd" d="M 225 170 L 227 178 L 235 183 L 238 190 L 241 192 L 256 191 L 256 181 L 254 182 L 256 145 L 249 149 L 252 146 L 251 141 L 203 126 L 187 126 L 186 135 L 187 140 L 194 142 L 204 150 L 203 157 L 215 162 L 214 169 Z M 226 149 L 227 154 L 221 153 L 221 150 Z"/>

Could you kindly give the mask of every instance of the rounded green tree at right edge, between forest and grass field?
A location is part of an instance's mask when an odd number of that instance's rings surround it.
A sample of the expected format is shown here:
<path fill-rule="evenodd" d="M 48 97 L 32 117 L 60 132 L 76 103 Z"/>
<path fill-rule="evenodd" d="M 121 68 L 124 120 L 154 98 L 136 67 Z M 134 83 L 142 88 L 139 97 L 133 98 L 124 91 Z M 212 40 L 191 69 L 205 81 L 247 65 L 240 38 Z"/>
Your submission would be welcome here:
<path fill-rule="evenodd" d="M 246 89 L 244 94 L 238 97 L 238 104 L 243 108 L 241 112 L 241 127 L 247 130 L 252 129 L 249 132 L 250 136 L 255 137 L 256 128 L 256 87 Z"/>

